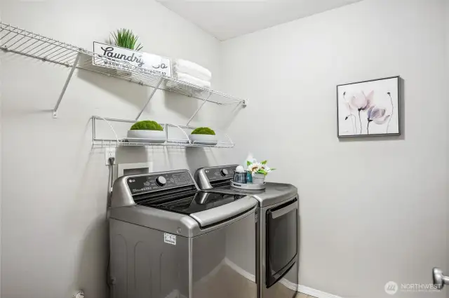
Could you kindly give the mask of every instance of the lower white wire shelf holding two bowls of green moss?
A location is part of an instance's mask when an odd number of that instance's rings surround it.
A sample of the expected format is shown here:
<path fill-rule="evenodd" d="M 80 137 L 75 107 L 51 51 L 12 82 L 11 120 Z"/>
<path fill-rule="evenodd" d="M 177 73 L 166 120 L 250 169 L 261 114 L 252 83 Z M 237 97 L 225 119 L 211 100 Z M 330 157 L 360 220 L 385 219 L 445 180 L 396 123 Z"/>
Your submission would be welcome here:
<path fill-rule="evenodd" d="M 99 131 L 100 123 L 102 121 L 103 126 L 102 133 Z M 166 137 L 161 140 L 148 140 L 148 142 L 142 142 L 143 139 L 133 139 L 130 137 L 124 137 L 128 128 L 137 121 L 124 120 L 116 118 L 103 118 L 100 116 L 92 116 L 92 144 L 93 147 L 210 147 L 210 148 L 233 148 L 235 144 L 231 138 L 220 130 L 215 130 L 217 135 L 217 142 L 192 142 L 187 135 L 189 130 L 194 130 L 192 126 L 177 126 L 175 124 L 165 123 L 161 126 L 166 133 Z M 121 130 L 119 127 L 112 123 L 121 123 Z M 124 128 L 124 129 L 123 129 Z M 171 130 L 171 132 L 170 132 Z M 174 130 L 174 131 L 173 131 Z M 187 132 L 186 132 L 187 131 Z M 102 137 L 98 137 L 99 134 Z M 109 135 L 107 135 L 109 133 Z M 173 136 L 172 136 L 173 135 Z M 139 140 L 139 142 L 137 142 Z M 153 142 L 152 142 L 153 141 Z"/>

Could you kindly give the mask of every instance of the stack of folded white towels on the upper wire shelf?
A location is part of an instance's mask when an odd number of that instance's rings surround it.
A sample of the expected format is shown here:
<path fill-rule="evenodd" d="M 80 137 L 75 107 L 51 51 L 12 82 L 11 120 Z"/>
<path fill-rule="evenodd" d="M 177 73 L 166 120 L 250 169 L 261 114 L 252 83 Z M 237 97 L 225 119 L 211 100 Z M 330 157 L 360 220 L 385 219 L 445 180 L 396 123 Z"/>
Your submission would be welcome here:
<path fill-rule="evenodd" d="M 173 62 L 173 76 L 193 85 L 210 88 L 212 73 L 194 62 L 177 59 Z"/>

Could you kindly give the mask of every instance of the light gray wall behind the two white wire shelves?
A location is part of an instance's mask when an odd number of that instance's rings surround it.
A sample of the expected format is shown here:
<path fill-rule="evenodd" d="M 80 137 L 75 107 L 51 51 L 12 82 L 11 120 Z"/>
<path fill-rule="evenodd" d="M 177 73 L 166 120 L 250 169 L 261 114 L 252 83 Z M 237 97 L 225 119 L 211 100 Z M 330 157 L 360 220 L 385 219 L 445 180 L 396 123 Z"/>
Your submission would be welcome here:
<path fill-rule="evenodd" d="M 88 49 L 92 41 L 128 27 L 139 34 L 145 51 L 193 60 L 212 70 L 215 86 L 220 81 L 220 43 L 155 1 L 3 0 L 1 8 L 4 22 Z M 83 289 L 86 297 L 106 297 L 108 169 L 103 149 L 91 149 L 90 117 L 133 119 L 151 89 L 76 72 L 53 119 L 68 69 L 17 55 L 0 57 L 6 132 L 1 296 L 62 298 Z M 142 118 L 184 124 L 198 106 L 193 98 L 158 92 Z M 117 158 L 149 161 L 159 171 L 215 165 L 223 162 L 219 154 L 131 148 Z"/>

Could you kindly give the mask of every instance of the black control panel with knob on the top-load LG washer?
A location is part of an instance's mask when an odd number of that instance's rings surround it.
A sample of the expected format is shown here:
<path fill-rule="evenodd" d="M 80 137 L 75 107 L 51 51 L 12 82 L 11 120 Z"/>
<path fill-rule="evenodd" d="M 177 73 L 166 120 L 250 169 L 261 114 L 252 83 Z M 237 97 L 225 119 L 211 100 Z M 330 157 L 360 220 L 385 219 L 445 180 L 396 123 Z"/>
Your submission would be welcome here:
<path fill-rule="evenodd" d="M 173 189 L 194 184 L 192 176 L 186 170 L 173 172 L 156 172 L 147 175 L 129 176 L 126 184 L 131 195 L 145 194 L 162 189 Z"/>

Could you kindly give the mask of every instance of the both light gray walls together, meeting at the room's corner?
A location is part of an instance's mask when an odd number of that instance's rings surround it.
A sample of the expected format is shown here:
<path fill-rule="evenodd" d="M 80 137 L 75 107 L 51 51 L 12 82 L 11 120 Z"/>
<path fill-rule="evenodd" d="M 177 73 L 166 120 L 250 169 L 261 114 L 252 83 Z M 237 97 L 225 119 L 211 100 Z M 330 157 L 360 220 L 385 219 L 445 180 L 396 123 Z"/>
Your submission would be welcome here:
<path fill-rule="evenodd" d="M 300 283 L 378 298 L 388 280 L 429 283 L 431 267 L 447 264 L 444 2 L 366 0 L 221 44 L 152 0 L 126 1 L 129 14 L 115 0 L 4 0 L 0 8 L 5 22 L 85 48 L 130 27 L 146 51 L 199 62 L 215 86 L 249 97 L 230 127 L 232 151 L 128 149 L 118 161 L 194 170 L 243 161 L 248 151 L 268 158 L 279 169 L 269 180 L 300 191 Z M 150 90 L 77 72 L 53 119 L 67 69 L 0 58 L 1 295 L 60 298 L 82 288 L 105 297 L 108 171 L 102 149 L 91 149 L 89 117 L 133 118 Z M 335 86 L 397 74 L 403 136 L 337 140 Z M 145 118 L 184 123 L 198 107 L 157 94 Z"/>

